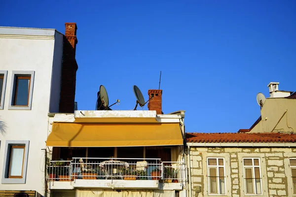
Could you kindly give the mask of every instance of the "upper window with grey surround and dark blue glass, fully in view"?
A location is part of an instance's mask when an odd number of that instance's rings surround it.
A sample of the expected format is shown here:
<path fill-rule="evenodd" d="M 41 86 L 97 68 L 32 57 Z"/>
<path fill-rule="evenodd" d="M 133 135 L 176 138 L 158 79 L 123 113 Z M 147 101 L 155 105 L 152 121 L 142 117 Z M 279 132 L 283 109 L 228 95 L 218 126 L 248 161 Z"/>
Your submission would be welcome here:
<path fill-rule="evenodd" d="M 12 71 L 8 109 L 31 109 L 34 71 Z"/>

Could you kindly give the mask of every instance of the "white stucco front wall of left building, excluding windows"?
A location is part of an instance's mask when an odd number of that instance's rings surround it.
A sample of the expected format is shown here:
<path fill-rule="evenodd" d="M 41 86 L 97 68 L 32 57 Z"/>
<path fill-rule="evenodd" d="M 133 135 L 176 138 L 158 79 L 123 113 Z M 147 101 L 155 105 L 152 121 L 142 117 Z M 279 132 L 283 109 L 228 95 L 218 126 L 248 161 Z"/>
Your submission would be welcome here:
<path fill-rule="evenodd" d="M 0 110 L 0 180 L 4 176 L 5 141 L 30 141 L 26 183 L 0 183 L 0 190 L 36 190 L 44 195 L 44 150 L 41 149 L 46 148 L 54 34 L 55 30 L 0 28 L 0 65 L 8 71 L 4 109 Z M 31 110 L 8 110 L 13 70 L 35 71 Z"/>

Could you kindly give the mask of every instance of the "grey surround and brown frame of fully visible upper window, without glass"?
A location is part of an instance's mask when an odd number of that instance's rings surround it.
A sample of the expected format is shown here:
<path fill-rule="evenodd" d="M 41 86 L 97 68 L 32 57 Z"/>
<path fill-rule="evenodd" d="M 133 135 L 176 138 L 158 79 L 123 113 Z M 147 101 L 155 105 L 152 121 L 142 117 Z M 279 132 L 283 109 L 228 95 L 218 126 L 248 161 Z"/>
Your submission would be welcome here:
<path fill-rule="evenodd" d="M 17 86 L 19 78 L 30 78 L 30 85 L 29 85 L 29 94 L 28 94 L 28 105 L 15 105 L 16 98 L 17 98 Z M 30 70 L 23 70 L 23 71 L 12 71 L 11 75 L 11 88 L 10 88 L 10 95 L 9 95 L 9 105 L 8 109 L 15 109 L 15 110 L 31 110 L 32 108 L 32 97 L 33 97 L 33 87 L 34 87 L 34 78 L 35 78 L 35 71 Z"/>

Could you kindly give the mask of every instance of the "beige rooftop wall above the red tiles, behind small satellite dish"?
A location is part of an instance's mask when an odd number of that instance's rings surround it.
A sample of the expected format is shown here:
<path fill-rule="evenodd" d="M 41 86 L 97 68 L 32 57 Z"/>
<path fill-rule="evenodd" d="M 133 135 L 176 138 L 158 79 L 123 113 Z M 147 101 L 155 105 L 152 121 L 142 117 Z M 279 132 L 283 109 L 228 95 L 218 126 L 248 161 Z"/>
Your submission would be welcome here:
<path fill-rule="evenodd" d="M 296 133 L 296 99 L 266 99 L 261 117 L 250 132 Z"/>

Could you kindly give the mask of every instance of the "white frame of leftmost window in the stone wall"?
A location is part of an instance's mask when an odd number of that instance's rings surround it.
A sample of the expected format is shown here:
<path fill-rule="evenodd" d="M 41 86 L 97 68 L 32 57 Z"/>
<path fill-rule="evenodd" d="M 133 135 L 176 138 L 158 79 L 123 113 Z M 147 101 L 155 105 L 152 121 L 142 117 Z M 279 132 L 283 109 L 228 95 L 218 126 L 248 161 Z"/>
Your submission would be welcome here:
<path fill-rule="evenodd" d="M 209 159 L 216 159 L 217 160 L 217 165 L 209 165 Z M 219 165 L 219 159 L 223 160 L 223 165 Z M 211 188 L 210 188 L 210 168 L 214 168 L 216 167 L 216 172 L 217 172 L 217 189 L 218 189 L 218 193 L 217 194 L 211 194 Z M 224 174 L 224 191 L 225 194 L 221 194 L 220 191 L 220 181 L 219 181 L 219 167 L 223 167 L 223 174 Z M 222 157 L 208 157 L 207 158 L 207 171 L 208 171 L 208 194 L 209 196 L 226 196 L 226 176 L 225 176 L 225 159 Z"/>

